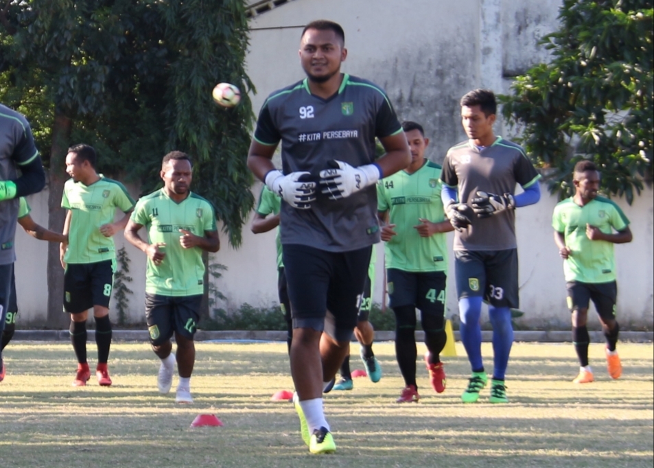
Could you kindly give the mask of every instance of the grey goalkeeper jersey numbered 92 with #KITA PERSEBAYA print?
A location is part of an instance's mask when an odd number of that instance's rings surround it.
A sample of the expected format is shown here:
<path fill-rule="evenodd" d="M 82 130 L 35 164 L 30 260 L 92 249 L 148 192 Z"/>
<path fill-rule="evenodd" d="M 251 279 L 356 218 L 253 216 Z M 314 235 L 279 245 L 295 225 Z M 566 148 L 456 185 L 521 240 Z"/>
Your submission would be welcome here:
<path fill-rule="evenodd" d="M 283 173 L 306 171 L 315 180 L 327 161 L 358 167 L 375 161 L 375 137 L 402 131 L 386 93 L 361 78 L 343 75 L 338 93 L 325 100 L 307 79 L 272 93 L 259 113 L 255 140 L 281 141 Z M 318 187 L 318 192 L 320 187 Z M 341 200 L 317 195 L 307 210 L 281 204 L 281 243 L 347 252 L 379 242 L 377 191 L 367 187 Z"/>

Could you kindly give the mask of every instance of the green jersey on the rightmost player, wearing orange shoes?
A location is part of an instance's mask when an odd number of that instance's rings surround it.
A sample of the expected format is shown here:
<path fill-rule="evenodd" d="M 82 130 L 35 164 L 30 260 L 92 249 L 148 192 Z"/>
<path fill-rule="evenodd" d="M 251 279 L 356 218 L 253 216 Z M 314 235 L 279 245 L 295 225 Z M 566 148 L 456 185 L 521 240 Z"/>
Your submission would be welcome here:
<path fill-rule="evenodd" d="M 627 216 L 608 198 L 596 197 L 583 207 L 570 197 L 554 207 L 552 226 L 563 233 L 565 245 L 572 250 L 563 261 L 565 281 L 609 283 L 616 280 L 616 260 L 613 242 L 590 240 L 586 224 L 596 226 L 605 234 L 624 231 L 629 226 Z"/>

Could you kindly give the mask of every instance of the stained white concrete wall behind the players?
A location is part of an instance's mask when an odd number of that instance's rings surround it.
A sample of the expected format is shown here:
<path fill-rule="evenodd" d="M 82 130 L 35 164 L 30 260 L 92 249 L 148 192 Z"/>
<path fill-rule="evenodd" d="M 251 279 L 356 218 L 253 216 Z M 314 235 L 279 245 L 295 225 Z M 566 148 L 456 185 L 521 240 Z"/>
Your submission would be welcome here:
<path fill-rule="evenodd" d="M 303 78 L 299 36 L 314 19 L 332 19 L 345 30 L 349 50 L 343 70 L 386 89 L 400 119 L 421 122 L 432 139 L 428 157 L 442 161 L 447 148 L 465 138 L 458 100 L 470 89 L 488 86 L 506 93 L 511 77 L 546 60 L 538 46 L 557 27 L 559 1 L 537 0 L 294 0 L 250 21 L 248 75 L 257 87 L 258 113 L 272 91 Z M 502 123 L 497 132 L 503 133 Z M 260 185 L 253 187 L 259 194 Z M 133 190 L 132 193 L 137 193 Z M 531 327 L 567 328 L 563 268 L 552 241 L 550 218 L 556 203 L 547 195 L 535 207 L 520 209 L 517 231 L 520 294 Z M 47 224 L 47 193 L 30 197 L 36 222 Z M 634 241 L 616 246 L 620 320 L 625 327 L 653 325 L 653 193 L 648 189 L 632 207 L 618 200 L 632 221 Z M 19 231 L 20 228 L 19 228 Z M 450 235 L 450 244 L 451 244 Z M 117 235 L 117 245 L 124 244 Z M 221 235 L 222 248 L 211 261 L 229 270 L 218 281 L 226 308 L 242 303 L 266 307 L 277 303 L 275 234 L 253 235 L 246 227 L 235 250 Z M 16 239 L 20 320 L 45 320 L 45 242 L 20 232 Z M 144 256 L 128 246 L 132 259 L 130 319 L 143 321 Z M 377 248 L 376 302 L 382 301 L 383 248 Z M 448 316 L 456 314 L 456 295 L 448 285 Z"/>

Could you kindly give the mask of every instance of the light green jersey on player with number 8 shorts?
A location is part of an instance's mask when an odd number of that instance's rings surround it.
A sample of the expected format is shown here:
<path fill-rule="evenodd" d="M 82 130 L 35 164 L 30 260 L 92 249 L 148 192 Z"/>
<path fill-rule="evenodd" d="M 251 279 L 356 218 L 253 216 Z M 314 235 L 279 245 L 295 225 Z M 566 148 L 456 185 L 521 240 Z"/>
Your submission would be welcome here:
<path fill-rule="evenodd" d="M 100 226 L 113 222 L 117 208 L 128 213 L 134 204 L 124 185 L 102 174 L 89 186 L 67 180 L 61 198 L 61 206 L 71 210 L 72 216 L 64 257 L 66 263 L 92 264 L 115 260 L 113 237 L 104 237 Z"/>

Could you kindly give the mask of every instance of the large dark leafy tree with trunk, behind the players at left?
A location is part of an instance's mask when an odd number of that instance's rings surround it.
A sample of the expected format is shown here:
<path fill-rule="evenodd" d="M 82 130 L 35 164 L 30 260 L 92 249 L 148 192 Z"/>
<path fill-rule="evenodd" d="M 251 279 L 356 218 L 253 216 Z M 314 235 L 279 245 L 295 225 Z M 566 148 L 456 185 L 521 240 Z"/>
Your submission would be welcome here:
<path fill-rule="evenodd" d="M 49 167 L 49 229 L 60 230 L 64 158 L 72 143 L 98 150 L 98 169 L 159 183 L 161 157 L 197 160 L 194 190 L 213 202 L 231 244 L 253 206 L 245 161 L 253 85 L 241 0 L 5 1 L 0 9 L 0 100 L 32 122 Z M 216 82 L 243 91 L 237 108 L 211 100 Z M 61 320 L 58 246 L 48 258 L 48 323 Z"/>

